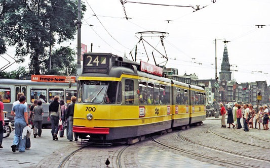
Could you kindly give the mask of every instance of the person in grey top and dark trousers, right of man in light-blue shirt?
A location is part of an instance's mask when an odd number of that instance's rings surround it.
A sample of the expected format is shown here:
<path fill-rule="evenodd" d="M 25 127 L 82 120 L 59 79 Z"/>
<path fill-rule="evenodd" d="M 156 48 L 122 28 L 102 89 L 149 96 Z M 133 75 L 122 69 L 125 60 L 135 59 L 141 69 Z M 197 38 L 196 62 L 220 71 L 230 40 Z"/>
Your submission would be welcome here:
<path fill-rule="evenodd" d="M 34 138 L 36 138 L 36 135 L 38 135 L 38 137 L 41 137 L 41 133 L 42 133 L 42 122 L 43 122 L 42 115 L 44 114 L 44 109 L 43 109 L 43 106 L 41 105 L 42 105 L 42 101 L 38 100 L 37 106 L 35 106 L 33 109 Z"/>

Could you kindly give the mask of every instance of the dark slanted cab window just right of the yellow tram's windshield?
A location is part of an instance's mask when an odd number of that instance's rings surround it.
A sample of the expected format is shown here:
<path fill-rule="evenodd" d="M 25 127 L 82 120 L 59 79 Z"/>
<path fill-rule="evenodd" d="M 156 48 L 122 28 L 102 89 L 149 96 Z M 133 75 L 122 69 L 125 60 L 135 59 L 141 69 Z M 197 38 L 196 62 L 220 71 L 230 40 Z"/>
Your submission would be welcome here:
<path fill-rule="evenodd" d="M 104 98 L 105 103 L 108 103 L 108 104 L 115 103 L 116 95 L 117 95 L 117 87 L 118 87 L 118 82 L 116 81 L 110 81 L 108 83 L 107 93 Z"/>

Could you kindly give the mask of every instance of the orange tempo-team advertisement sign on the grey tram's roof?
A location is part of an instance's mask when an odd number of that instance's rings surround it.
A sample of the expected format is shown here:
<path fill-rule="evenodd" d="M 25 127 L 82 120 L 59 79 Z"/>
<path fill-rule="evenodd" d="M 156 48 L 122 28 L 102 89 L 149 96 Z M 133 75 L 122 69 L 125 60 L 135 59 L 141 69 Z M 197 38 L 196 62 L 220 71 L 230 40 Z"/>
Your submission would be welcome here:
<path fill-rule="evenodd" d="M 53 75 L 32 75 L 31 81 L 34 82 L 60 82 L 60 83 L 75 83 L 74 76 L 53 76 Z"/>

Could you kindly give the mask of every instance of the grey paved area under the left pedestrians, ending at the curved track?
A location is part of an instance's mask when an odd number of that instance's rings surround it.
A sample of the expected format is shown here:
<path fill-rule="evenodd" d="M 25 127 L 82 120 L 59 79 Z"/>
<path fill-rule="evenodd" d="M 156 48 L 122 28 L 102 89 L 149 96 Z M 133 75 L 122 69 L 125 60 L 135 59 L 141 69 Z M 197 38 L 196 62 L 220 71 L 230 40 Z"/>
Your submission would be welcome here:
<path fill-rule="evenodd" d="M 58 134 L 58 140 L 54 141 L 51 134 L 51 129 L 43 129 L 42 135 L 39 138 L 30 136 L 31 148 L 26 149 L 25 152 L 12 152 L 11 145 L 13 144 L 14 132 L 7 138 L 3 138 L 2 146 L 0 148 L 1 153 L 1 165 L 0 167 L 36 167 L 38 163 L 48 157 L 55 151 L 62 149 L 68 145 L 76 145 L 76 143 L 69 142 L 66 137 L 60 138 Z"/>

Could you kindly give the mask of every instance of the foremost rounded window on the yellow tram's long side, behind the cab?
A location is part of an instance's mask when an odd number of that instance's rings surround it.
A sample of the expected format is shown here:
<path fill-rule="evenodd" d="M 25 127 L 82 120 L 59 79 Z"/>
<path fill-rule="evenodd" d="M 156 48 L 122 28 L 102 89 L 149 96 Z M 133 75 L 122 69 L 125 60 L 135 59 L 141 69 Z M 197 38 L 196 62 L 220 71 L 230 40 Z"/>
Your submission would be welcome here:
<path fill-rule="evenodd" d="M 126 104 L 134 103 L 134 81 L 131 79 L 125 80 L 125 102 Z"/>

